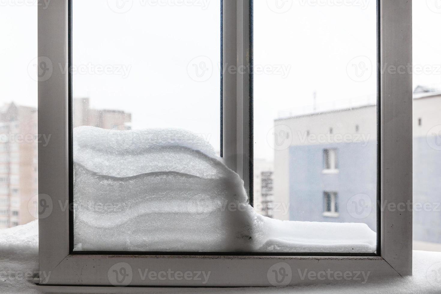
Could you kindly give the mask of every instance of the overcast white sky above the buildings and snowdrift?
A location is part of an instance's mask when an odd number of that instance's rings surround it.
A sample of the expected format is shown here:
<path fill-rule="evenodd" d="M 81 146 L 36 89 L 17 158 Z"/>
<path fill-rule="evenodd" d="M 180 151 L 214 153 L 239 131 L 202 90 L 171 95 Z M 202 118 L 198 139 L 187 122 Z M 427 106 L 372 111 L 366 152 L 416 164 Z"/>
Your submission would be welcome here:
<path fill-rule="evenodd" d="M 268 71 L 255 74 L 255 156 L 268 159 L 273 150 L 266 135 L 282 111 L 307 110 L 314 91 L 317 103 L 328 106 L 376 91 L 375 1 L 336 7 L 288 0 L 288 10 L 273 1 L 254 1 L 254 65 Z M 28 69 L 37 57 L 37 9 L 18 3 L 0 2 L 0 102 L 36 106 L 37 83 Z M 74 96 L 90 97 L 96 108 L 131 112 L 135 129 L 182 127 L 219 149 L 219 1 L 127 3 L 131 9 L 117 13 L 127 6 L 74 0 L 74 65 L 89 68 L 75 74 Z M 432 66 L 434 73 L 414 74 L 414 86 L 441 83 L 441 9 L 426 3 L 413 2 L 414 65 Z M 368 71 L 357 77 L 353 66 L 360 62 Z M 111 66 L 113 74 L 94 73 L 100 66 Z"/>

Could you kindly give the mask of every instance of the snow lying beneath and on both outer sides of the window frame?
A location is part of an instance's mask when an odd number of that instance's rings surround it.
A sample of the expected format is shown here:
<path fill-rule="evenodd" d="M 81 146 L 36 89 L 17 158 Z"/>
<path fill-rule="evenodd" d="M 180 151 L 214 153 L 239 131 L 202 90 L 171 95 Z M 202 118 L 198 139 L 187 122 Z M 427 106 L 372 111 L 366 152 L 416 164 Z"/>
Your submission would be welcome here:
<path fill-rule="evenodd" d="M 0 293 L 412 293 L 439 294 L 440 252 L 413 252 L 413 275 L 403 278 L 368 279 L 366 284 L 339 281 L 332 284 L 285 288 L 135 288 L 37 286 L 30 278 L 38 272 L 38 221 L 0 230 Z M 50 275 L 50 272 L 46 275 Z"/>

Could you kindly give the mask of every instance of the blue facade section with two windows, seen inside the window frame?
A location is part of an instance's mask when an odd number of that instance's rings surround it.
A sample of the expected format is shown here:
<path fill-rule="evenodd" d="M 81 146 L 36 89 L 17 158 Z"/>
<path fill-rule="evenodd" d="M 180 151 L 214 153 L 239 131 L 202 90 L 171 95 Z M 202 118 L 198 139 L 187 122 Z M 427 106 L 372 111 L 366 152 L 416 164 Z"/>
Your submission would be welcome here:
<path fill-rule="evenodd" d="M 329 149 L 337 168 L 328 172 Z M 377 231 L 377 141 L 290 146 L 289 194 L 290 220 L 366 223 Z"/>

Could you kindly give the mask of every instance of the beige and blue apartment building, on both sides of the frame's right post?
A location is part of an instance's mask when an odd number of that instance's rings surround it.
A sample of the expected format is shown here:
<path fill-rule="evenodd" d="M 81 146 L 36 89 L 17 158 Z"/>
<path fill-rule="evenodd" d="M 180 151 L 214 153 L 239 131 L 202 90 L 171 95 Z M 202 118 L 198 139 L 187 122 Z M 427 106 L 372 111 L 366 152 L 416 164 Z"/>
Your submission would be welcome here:
<path fill-rule="evenodd" d="M 381 207 L 412 209 L 414 239 L 441 243 L 441 92 L 417 87 L 413 109 L 414 206 Z M 291 116 L 275 126 L 290 144 L 275 150 L 274 201 L 289 210 L 274 218 L 361 222 L 376 231 L 377 106 Z"/>

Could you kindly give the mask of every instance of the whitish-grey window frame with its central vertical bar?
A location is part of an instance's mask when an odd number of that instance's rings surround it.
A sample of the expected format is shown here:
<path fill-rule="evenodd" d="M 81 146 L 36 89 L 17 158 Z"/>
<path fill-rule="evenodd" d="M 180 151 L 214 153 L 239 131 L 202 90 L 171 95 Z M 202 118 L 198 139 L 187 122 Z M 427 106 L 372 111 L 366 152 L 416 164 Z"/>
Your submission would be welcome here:
<path fill-rule="evenodd" d="M 379 0 L 379 4 L 379 68 L 411 64 L 411 0 Z M 51 213 L 45 211 L 39 221 L 39 270 L 51 273 L 49 277 L 40 275 L 40 285 L 110 285 L 108 271 L 118 263 L 130 264 L 134 272 L 142 268 L 211 272 L 205 284 L 185 279 L 142 280 L 134 274 L 131 286 L 274 286 L 268 273 L 271 266 L 280 262 L 292 268 L 290 285 L 320 282 L 301 279 L 297 269 L 316 272 L 364 270 L 370 271 L 372 279 L 411 275 L 412 213 L 378 208 L 381 220 L 378 256 L 71 254 L 69 231 L 73 224 L 68 209 L 61 209 L 59 205 L 70 201 L 71 113 L 68 104 L 71 85 L 68 75 L 57 70 L 58 64 L 68 63 L 68 5 L 68 0 L 54 0 L 49 6 L 38 6 L 39 62 L 49 59 L 53 69 L 49 79 L 38 82 L 39 134 L 52 135 L 47 146 L 38 146 L 39 200 L 47 200 L 50 195 L 52 201 Z M 250 0 L 223 0 L 224 64 L 250 65 L 250 11 Z M 378 74 L 381 74 L 378 105 L 381 201 L 407 203 L 412 201 L 412 77 L 410 73 L 378 71 Z M 252 190 L 249 176 L 252 169 L 250 78 L 249 74 L 225 72 L 222 126 L 224 160 L 242 176 L 248 191 Z"/>

